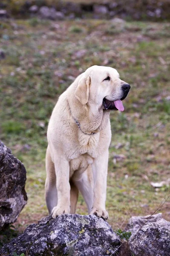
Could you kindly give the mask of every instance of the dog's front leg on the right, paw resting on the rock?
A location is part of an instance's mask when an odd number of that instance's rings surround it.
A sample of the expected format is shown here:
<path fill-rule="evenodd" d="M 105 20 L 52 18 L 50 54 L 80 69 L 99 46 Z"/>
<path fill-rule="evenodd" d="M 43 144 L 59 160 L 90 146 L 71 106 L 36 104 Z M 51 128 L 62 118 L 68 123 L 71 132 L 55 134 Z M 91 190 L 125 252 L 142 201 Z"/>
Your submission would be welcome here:
<path fill-rule="evenodd" d="M 105 151 L 92 163 L 94 177 L 94 201 L 90 214 L 107 219 L 108 212 L 105 209 L 106 190 L 107 190 L 107 166 L 109 151 Z"/>

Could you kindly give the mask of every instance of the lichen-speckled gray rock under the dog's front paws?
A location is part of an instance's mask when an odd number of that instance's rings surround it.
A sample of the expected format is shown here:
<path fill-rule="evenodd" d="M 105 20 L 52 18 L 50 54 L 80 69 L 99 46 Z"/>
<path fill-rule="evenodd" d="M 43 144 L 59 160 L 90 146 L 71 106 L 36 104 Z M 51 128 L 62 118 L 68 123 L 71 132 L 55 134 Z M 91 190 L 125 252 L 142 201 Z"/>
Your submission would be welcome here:
<path fill-rule="evenodd" d="M 12 256 L 29 251 L 29 256 L 116 256 L 120 239 L 110 225 L 95 215 L 63 214 L 42 218 L 0 249 Z"/>

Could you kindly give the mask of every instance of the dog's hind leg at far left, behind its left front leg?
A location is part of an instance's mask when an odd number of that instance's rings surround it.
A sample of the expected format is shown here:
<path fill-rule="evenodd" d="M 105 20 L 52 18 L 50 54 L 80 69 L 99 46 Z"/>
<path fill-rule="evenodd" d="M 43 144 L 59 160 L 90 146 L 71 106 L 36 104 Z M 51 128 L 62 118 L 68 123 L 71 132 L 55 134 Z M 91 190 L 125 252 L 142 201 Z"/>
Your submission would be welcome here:
<path fill-rule="evenodd" d="M 51 214 L 53 207 L 57 205 L 57 188 L 55 166 L 49 152 L 49 146 L 46 150 L 46 183 L 45 183 L 46 205 Z"/>

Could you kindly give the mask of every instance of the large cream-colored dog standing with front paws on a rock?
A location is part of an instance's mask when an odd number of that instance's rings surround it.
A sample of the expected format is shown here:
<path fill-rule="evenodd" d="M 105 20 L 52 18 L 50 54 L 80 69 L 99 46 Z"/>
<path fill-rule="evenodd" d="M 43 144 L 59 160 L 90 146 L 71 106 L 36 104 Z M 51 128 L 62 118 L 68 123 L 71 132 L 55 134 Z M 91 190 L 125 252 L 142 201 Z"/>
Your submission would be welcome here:
<path fill-rule="evenodd" d="M 47 131 L 46 204 L 55 218 L 75 213 L 78 190 L 89 214 L 105 209 L 110 110 L 124 111 L 130 85 L 111 67 L 92 66 L 61 94 Z"/>

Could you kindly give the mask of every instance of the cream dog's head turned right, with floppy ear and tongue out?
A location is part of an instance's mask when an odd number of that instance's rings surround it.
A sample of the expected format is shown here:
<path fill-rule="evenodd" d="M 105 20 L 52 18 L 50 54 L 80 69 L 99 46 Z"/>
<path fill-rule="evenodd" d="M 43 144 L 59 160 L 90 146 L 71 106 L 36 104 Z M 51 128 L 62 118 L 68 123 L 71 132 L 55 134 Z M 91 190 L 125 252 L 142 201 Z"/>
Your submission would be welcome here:
<path fill-rule="evenodd" d="M 112 67 L 89 67 L 78 81 L 76 98 L 82 104 L 95 104 L 99 108 L 124 111 L 122 100 L 130 90 L 130 85 L 119 78 Z"/>

